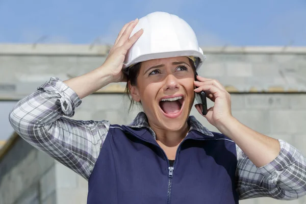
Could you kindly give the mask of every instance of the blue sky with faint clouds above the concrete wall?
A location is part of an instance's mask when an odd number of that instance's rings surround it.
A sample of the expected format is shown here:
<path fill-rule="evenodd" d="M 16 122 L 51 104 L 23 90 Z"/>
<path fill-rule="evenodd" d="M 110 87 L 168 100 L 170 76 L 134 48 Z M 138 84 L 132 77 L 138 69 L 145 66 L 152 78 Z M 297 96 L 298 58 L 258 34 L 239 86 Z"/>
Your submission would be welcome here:
<path fill-rule="evenodd" d="M 112 44 L 125 22 L 179 15 L 201 45 L 306 46 L 306 0 L 0 0 L 0 43 Z"/>

